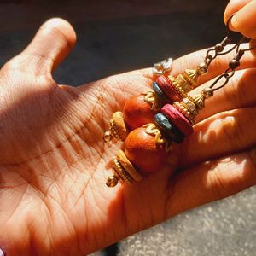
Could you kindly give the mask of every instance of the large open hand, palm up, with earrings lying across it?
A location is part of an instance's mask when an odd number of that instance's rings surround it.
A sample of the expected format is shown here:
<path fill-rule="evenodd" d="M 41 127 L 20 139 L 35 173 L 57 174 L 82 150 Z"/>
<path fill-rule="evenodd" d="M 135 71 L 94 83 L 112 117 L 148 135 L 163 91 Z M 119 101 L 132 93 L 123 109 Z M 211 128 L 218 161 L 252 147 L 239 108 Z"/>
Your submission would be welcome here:
<path fill-rule="evenodd" d="M 51 73 L 73 44 L 67 21 L 49 20 L 0 71 L 0 246 L 8 255 L 91 253 L 256 183 L 250 53 L 241 61 L 244 70 L 208 100 L 194 134 L 172 153 L 172 169 L 110 189 L 109 162 L 121 143 L 104 143 L 103 133 L 129 96 L 148 90 L 152 73 L 143 69 L 77 88 L 56 84 Z M 204 54 L 174 61 L 172 74 L 196 67 Z M 201 84 L 230 59 L 214 61 Z"/>

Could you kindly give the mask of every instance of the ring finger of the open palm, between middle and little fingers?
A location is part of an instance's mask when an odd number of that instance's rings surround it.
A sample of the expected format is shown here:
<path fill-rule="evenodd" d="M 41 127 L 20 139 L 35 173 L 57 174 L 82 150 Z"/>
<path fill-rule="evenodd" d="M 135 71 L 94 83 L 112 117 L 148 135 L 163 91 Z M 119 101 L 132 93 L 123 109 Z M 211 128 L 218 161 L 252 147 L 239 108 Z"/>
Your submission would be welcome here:
<path fill-rule="evenodd" d="M 255 146 L 255 110 L 230 110 L 195 125 L 194 133 L 179 148 L 180 166 L 193 166 Z"/>

